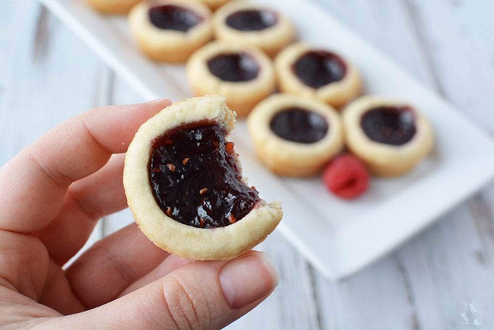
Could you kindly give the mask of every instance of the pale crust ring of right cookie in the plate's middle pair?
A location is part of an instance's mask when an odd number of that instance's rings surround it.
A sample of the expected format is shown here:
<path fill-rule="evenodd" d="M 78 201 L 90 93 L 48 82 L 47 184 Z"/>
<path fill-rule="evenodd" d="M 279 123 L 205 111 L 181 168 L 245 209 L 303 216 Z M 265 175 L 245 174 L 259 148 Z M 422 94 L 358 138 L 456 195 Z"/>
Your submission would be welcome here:
<path fill-rule="evenodd" d="M 361 78 L 357 67 L 343 59 L 346 64 L 346 74 L 340 81 L 329 83 L 320 88 L 305 85 L 293 73 L 292 65 L 300 56 L 311 50 L 320 50 L 304 43 L 296 43 L 283 49 L 275 59 L 276 74 L 282 92 L 317 97 L 329 105 L 340 108 L 355 98 L 361 90 Z"/>

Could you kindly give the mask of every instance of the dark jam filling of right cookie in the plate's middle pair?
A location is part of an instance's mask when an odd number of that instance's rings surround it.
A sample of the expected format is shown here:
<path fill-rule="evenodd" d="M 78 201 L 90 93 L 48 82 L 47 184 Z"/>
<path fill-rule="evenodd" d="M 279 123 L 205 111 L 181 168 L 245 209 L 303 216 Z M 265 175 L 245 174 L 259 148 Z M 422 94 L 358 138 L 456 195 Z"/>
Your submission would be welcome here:
<path fill-rule="evenodd" d="M 343 79 L 346 74 L 346 64 L 334 53 L 311 50 L 293 63 L 292 70 L 305 85 L 320 88 Z"/>

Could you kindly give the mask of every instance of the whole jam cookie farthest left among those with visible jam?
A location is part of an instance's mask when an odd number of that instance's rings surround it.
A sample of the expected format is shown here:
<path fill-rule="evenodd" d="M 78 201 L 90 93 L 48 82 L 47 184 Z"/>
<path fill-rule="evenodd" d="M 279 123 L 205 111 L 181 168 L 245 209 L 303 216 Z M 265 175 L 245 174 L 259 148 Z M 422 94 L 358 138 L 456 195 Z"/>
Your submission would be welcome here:
<path fill-rule="evenodd" d="M 212 38 L 211 12 L 195 0 L 143 1 L 129 14 L 130 30 L 151 59 L 183 63 Z"/>

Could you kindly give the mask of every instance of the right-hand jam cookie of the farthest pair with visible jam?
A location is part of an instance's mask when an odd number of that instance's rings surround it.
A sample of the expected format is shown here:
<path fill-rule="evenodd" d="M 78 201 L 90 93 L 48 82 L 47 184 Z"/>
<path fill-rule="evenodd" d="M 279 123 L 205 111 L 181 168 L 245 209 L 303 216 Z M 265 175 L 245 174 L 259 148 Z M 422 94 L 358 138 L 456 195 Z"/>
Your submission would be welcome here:
<path fill-rule="evenodd" d="M 249 1 L 233 1 L 218 9 L 213 15 L 213 30 L 216 39 L 259 47 L 272 57 L 294 39 L 286 15 Z"/>

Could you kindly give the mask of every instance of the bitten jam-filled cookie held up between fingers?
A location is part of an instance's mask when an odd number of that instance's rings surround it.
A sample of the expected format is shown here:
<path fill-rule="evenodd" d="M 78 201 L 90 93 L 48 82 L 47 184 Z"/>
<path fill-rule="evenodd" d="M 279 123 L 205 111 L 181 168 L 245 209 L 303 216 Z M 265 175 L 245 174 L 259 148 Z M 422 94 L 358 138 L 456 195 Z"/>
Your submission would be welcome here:
<path fill-rule="evenodd" d="M 242 178 L 226 136 L 234 113 L 218 95 L 174 103 L 145 122 L 124 166 L 128 205 L 141 231 L 183 258 L 226 260 L 249 251 L 282 210 Z"/>

